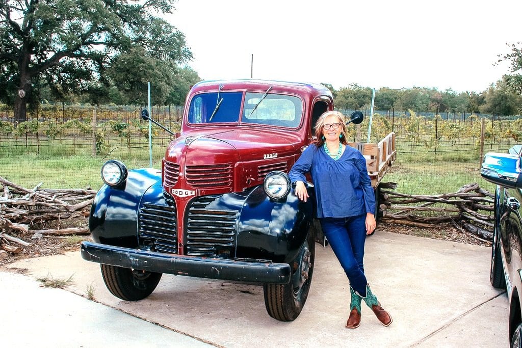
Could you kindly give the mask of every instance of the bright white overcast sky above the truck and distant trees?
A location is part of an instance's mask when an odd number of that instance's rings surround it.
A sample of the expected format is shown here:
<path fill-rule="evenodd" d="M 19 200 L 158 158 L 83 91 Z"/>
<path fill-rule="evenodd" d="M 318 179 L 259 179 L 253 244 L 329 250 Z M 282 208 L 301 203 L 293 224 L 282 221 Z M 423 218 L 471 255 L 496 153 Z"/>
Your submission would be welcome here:
<path fill-rule="evenodd" d="M 522 41 L 521 0 L 178 0 L 167 18 L 203 79 L 483 91 Z"/>

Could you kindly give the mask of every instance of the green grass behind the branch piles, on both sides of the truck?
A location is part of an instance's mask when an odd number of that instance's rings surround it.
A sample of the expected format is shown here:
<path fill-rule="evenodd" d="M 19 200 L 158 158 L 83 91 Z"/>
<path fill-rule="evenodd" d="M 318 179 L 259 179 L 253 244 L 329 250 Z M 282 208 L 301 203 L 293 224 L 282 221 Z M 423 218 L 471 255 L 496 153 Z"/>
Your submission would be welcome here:
<path fill-rule="evenodd" d="M 37 141 L 27 139 L 0 141 L 0 176 L 24 187 L 43 182 L 46 188 L 98 189 L 102 185 L 101 165 L 109 159 L 123 161 L 129 169 L 149 166 L 148 142 L 143 137 L 126 139 L 106 137 L 106 150 L 92 156 L 90 136 L 64 137 Z M 169 137 L 156 137 L 153 141 L 152 166 L 159 169 Z M 487 143 L 488 151 L 506 152 L 514 145 L 513 139 Z M 477 182 L 485 189 L 492 185 L 480 177 L 479 148 L 476 139 L 460 139 L 456 145 L 441 140 L 436 148 L 428 141 L 412 146 L 406 138 L 396 139 L 397 160 L 383 178 L 396 182 L 397 191 L 407 194 L 435 195 L 457 191 L 463 185 Z"/>

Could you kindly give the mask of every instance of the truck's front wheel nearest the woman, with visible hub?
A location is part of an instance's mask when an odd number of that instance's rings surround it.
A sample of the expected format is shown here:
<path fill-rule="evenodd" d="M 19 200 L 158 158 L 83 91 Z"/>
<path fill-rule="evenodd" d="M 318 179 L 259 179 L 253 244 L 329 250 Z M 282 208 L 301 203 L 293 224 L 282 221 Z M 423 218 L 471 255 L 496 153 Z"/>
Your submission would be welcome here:
<path fill-rule="evenodd" d="M 314 233 L 309 231 L 301 251 L 290 264 L 293 273 L 289 284 L 264 284 L 268 315 L 279 321 L 292 321 L 299 316 L 310 291 L 315 263 Z"/>

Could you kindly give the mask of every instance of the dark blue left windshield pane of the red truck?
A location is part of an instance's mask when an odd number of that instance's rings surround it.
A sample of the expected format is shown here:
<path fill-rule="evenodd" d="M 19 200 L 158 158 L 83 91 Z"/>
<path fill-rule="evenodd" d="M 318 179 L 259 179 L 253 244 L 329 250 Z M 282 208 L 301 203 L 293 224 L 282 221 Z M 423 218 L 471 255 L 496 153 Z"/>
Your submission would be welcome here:
<path fill-rule="evenodd" d="M 221 98 L 223 101 L 220 102 Z M 238 122 L 243 92 L 201 93 L 192 98 L 188 110 L 189 123 Z M 216 109 L 216 106 L 219 107 Z M 213 115 L 212 115 L 213 113 Z M 212 116 L 212 117 L 211 117 Z"/>

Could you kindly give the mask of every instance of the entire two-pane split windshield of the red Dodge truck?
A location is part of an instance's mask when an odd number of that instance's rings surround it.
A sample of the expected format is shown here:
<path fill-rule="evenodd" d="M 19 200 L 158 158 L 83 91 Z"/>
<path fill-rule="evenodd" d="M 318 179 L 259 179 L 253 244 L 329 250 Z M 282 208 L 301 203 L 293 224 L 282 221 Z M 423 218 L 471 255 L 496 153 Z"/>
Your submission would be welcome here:
<path fill-rule="evenodd" d="M 300 98 L 284 94 L 267 94 L 262 100 L 264 93 L 244 94 L 243 110 L 243 92 L 216 91 L 197 94 L 189 105 L 188 122 L 237 123 L 241 117 L 242 123 L 290 128 L 298 127 L 301 123 L 303 102 Z"/>

